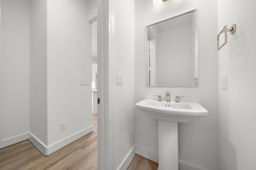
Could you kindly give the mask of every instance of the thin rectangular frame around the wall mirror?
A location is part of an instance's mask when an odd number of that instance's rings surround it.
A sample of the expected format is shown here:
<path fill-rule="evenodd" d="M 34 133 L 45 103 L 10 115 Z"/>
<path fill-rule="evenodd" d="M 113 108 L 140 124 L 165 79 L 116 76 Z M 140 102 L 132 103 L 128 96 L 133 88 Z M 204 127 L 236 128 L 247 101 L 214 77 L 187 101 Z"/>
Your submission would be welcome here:
<path fill-rule="evenodd" d="M 172 18 L 176 18 L 176 17 L 178 17 L 178 16 L 182 16 L 182 15 L 184 15 L 184 14 L 187 14 L 187 13 L 190 13 L 190 12 L 195 12 L 195 65 L 196 65 L 196 69 L 195 69 L 195 71 L 196 71 L 196 77 L 194 78 L 194 80 L 196 81 L 196 86 L 148 86 L 148 57 L 147 57 L 147 37 L 148 37 L 148 27 L 150 27 L 150 26 L 152 26 L 152 25 L 155 25 L 155 24 L 157 24 L 157 23 L 160 23 L 160 22 L 163 22 L 163 21 L 167 21 L 167 20 L 170 20 L 170 19 L 172 19 Z M 166 19 L 164 19 L 164 20 L 161 20 L 161 21 L 158 21 L 158 22 L 155 22 L 155 23 L 152 23 L 152 24 L 150 24 L 150 25 L 147 25 L 146 27 L 145 27 L 145 34 L 146 34 L 146 87 L 198 87 L 198 40 L 197 40 L 197 35 L 198 35 L 198 33 L 197 33 L 197 28 L 198 28 L 198 26 L 197 26 L 197 9 L 193 9 L 193 10 L 190 10 L 190 11 L 187 11 L 187 12 L 184 12 L 184 13 L 182 13 L 182 14 L 178 14 L 178 15 L 176 15 L 176 16 L 172 16 L 172 17 L 167 17 Z"/>

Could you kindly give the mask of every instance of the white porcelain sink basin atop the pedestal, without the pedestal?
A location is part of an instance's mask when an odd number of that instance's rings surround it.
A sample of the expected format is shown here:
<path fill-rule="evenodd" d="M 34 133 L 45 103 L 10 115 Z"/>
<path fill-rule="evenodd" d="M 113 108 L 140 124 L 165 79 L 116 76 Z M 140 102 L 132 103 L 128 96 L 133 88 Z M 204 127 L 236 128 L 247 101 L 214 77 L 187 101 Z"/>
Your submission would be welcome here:
<path fill-rule="evenodd" d="M 193 118 L 208 115 L 208 111 L 195 102 L 158 102 L 145 99 L 136 103 L 135 106 L 150 117 L 168 122 L 189 122 Z"/>

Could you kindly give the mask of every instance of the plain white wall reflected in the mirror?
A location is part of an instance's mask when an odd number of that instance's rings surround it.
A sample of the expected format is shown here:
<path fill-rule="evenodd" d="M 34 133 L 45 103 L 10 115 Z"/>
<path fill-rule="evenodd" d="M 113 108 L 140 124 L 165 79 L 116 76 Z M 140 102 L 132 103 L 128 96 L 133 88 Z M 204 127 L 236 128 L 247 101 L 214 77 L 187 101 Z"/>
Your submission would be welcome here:
<path fill-rule="evenodd" d="M 194 55 L 190 54 L 190 27 L 190 24 L 182 25 L 159 33 L 158 86 L 191 85 L 191 56 Z"/>

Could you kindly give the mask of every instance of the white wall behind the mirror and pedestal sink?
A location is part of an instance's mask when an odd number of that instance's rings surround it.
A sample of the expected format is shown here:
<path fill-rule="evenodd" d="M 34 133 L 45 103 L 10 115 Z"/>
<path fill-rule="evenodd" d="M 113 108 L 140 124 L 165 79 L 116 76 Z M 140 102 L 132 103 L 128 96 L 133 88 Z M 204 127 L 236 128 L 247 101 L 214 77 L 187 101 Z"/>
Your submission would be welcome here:
<path fill-rule="evenodd" d="M 155 8 L 152 1 L 135 2 L 135 55 L 136 55 L 136 102 L 145 98 L 156 99 L 170 90 L 175 96 L 186 96 L 182 101 L 199 102 L 208 116 L 189 123 L 179 123 L 179 160 L 206 170 L 217 169 L 217 4 L 216 1 L 170 0 Z M 150 23 L 198 9 L 198 88 L 146 88 L 145 75 L 145 26 Z M 209 27 L 211 25 L 211 27 Z M 190 30 L 188 30 L 190 31 Z M 190 51 L 190 49 L 188 49 Z M 136 152 L 158 161 L 158 122 L 136 109 Z"/>

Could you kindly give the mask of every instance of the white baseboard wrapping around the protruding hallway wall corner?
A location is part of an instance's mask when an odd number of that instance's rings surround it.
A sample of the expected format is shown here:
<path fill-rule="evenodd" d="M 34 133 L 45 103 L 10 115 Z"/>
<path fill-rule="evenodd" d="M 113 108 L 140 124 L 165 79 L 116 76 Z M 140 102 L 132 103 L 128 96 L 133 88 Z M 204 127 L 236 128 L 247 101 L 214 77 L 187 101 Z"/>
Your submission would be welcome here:
<path fill-rule="evenodd" d="M 86 129 L 83 129 L 82 131 L 79 131 L 73 135 L 70 135 L 69 137 L 66 137 L 65 139 L 62 139 L 48 147 L 44 145 L 40 140 L 38 140 L 34 135 L 29 135 L 29 141 L 38 149 L 42 154 L 45 156 L 48 156 L 49 154 L 55 152 L 56 150 L 61 149 L 62 147 L 65 147 L 66 145 L 76 141 L 80 137 L 83 137 L 84 135 L 87 135 L 88 133 L 93 131 L 93 126 L 90 126 Z"/>

